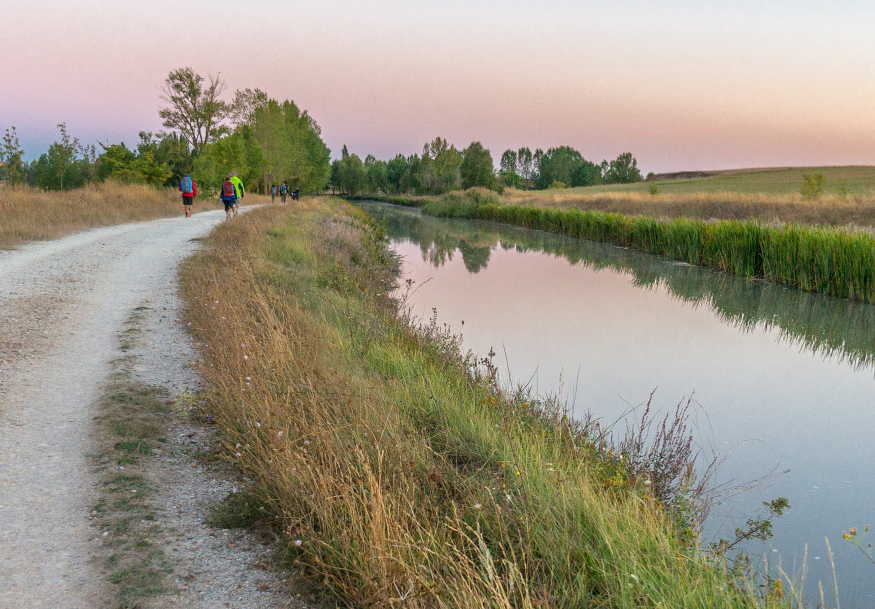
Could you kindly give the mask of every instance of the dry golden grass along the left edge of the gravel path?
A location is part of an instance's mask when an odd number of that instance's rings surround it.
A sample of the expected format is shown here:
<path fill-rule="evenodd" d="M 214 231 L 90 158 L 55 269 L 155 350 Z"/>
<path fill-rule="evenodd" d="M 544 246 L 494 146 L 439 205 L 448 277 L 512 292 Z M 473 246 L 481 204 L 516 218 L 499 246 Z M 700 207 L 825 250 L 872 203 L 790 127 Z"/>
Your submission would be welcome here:
<path fill-rule="evenodd" d="M 266 197 L 249 195 L 247 203 Z M 256 201 L 257 199 L 257 201 Z M 218 199 L 196 197 L 194 212 L 218 209 Z M 183 215 L 179 191 L 104 182 L 72 191 L 0 186 L 0 249 L 58 239 L 88 228 Z"/>

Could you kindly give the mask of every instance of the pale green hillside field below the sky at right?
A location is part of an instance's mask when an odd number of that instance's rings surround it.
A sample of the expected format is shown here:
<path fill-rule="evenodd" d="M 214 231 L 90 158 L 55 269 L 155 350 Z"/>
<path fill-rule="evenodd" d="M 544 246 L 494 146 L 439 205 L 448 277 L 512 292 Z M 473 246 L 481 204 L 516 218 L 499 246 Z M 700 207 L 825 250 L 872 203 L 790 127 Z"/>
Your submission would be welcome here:
<path fill-rule="evenodd" d="M 849 194 L 875 193 L 875 166 L 849 165 L 841 167 L 776 167 L 735 169 L 715 173 L 708 178 L 656 180 L 662 194 L 689 193 L 799 193 L 802 173 L 823 173 L 826 192 L 838 193 L 844 186 Z M 648 193 L 654 182 L 584 186 L 563 190 L 564 193 Z"/>

